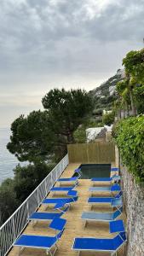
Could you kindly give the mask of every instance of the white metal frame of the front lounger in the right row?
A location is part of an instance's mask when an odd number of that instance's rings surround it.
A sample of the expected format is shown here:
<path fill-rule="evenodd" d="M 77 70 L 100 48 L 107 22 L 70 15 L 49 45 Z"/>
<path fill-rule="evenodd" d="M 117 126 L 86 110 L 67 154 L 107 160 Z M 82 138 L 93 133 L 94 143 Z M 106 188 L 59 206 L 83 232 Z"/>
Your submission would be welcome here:
<path fill-rule="evenodd" d="M 125 234 L 126 234 L 126 232 L 125 232 Z M 120 235 L 119 235 L 120 236 Z M 123 237 L 122 236 L 120 236 L 121 238 L 122 238 L 122 240 L 124 241 L 124 239 L 123 239 Z M 86 237 L 86 238 L 95 238 L 95 237 Z M 104 237 L 96 237 L 96 238 L 99 238 L 99 239 L 104 239 Z M 105 237 L 106 239 L 110 239 L 109 237 Z M 72 250 L 74 250 L 74 251 L 76 251 L 76 252 L 78 252 L 78 256 L 80 256 L 80 253 L 81 253 L 81 251 L 84 251 L 84 252 L 101 252 L 101 253 L 111 253 L 111 256 L 117 256 L 117 253 L 118 253 L 118 250 L 121 248 L 121 247 L 123 247 L 123 246 L 125 246 L 125 244 L 126 244 L 126 241 L 127 240 L 125 240 L 124 241 L 124 243 L 122 243 L 114 252 L 113 251 L 108 251 L 108 250 L 93 250 L 93 249 L 89 249 L 89 250 L 86 250 L 86 249 L 80 249 L 80 250 L 78 250 L 78 249 L 73 249 L 73 245 L 74 245 L 74 241 L 73 241 L 73 244 L 72 244 Z"/>

